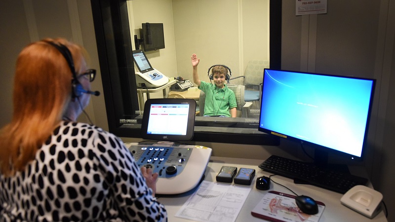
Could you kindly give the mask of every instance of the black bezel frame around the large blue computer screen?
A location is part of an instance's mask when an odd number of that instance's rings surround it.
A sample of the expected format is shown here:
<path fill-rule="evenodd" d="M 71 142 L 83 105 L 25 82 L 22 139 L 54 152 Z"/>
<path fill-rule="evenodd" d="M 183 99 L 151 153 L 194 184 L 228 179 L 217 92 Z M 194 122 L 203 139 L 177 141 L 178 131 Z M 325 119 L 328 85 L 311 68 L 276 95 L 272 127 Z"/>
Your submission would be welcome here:
<path fill-rule="evenodd" d="M 368 138 L 368 131 L 369 131 L 369 123 L 370 123 L 370 118 L 371 118 L 371 112 L 372 112 L 372 105 L 373 105 L 373 97 L 374 97 L 374 91 L 375 91 L 375 85 L 376 85 L 376 79 L 373 78 L 364 78 L 364 77 L 356 77 L 356 76 L 343 76 L 343 75 L 335 75 L 335 74 L 320 74 L 320 73 L 310 73 L 310 72 L 298 72 L 298 71 L 289 71 L 289 70 L 277 70 L 277 69 L 265 69 L 264 70 L 264 78 L 263 78 L 263 84 L 262 84 L 262 96 L 261 96 L 261 101 L 263 101 L 263 96 L 264 96 L 264 81 L 265 81 L 265 74 L 266 71 L 279 71 L 279 72 L 290 72 L 290 73 L 297 73 L 297 74 L 312 74 L 312 75 L 321 75 L 321 76 L 332 76 L 332 77 L 340 77 L 340 78 L 349 78 L 349 79 L 361 79 L 361 80 L 369 80 L 372 81 L 372 87 L 371 87 L 371 93 L 370 93 L 370 101 L 369 101 L 369 108 L 367 112 L 367 119 L 366 119 L 366 126 L 365 126 L 365 133 L 363 137 L 363 142 L 362 142 L 362 148 L 361 148 L 361 156 L 356 156 L 347 152 L 342 152 L 333 148 L 328 148 L 313 142 L 305 141 L 300 138 L 295 138 L 286 134 L 283 134 L 281 132 L 276 132 L 267 128 L 261 127 L 261 121 L 262 121 L 262 102 L 261 102 L 261 113 L 259 115 L 259 125 L 258 125 L 258 130 L 270 135 L 274 135 L 276 137 L 286 139 L 286 140 L 291 140 L 291 141 L 296 141 L 299 142 L 303 148 L 304 145 L 310 146 L 315 149 L 315 162 L 322 162 L 322 161 L 328 161 L 327 155 L 328 153 L 334 153 L 335 155 L 339 156 L 344 156 L 348 159 L 355 160 L 355 161 L 362 161 L 364 158 L 364 155 L 366 153 L 366 146 L 367 146 L 367 138 Z"/>

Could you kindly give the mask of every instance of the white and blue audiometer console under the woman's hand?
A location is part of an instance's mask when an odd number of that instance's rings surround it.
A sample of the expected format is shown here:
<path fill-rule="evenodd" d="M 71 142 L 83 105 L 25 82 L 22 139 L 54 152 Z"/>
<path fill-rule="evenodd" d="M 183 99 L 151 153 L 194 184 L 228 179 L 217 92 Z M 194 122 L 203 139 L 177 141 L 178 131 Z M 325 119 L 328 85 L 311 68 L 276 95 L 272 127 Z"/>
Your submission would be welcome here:
<path fill-rule="evenodd" d="M 158 194 L 179 194 L 195 188 L 204 175 L 211 148 L 194 145 L 160 146 L 125 143 L 139 167 L 158 173 Z"/>

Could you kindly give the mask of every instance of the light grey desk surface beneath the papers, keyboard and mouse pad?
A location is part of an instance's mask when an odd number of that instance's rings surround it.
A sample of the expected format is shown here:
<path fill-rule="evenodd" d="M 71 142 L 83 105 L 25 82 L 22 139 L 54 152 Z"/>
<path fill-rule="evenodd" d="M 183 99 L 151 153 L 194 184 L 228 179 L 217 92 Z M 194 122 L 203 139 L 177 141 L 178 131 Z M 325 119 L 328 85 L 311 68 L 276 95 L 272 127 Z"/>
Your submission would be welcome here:
<path fill-rule="evenodd" d="M 286 188 L 276 185 L 275 183 L 271 183 L 271 187 L 269 190 L 258 190 L 255 188 L 256 178 L 261 176 L 270 176 L 271 173 L 265 172 L 261 170 L 258 165 L 261 164 L 263 160 L 256 159 L 241 159 L 241 158 L 228 158 L 228 157 L 215 157 L 212 156 L 207 165 L 205 172 L 205 181 L 215 182 L 215 177 L 220 171 L 221 167 L 224 165 L 227 166 L 236 166 L 237 168 L 245 167 L 255 169 L 256 175 L 252 182 L 251 192 L 249 193 L 243 208 L 241 209 L 237 222 L 263 222 L 264 220 L 255 218 L 251 215 L 251 210 L 255 207 L 255 205 L 263 198 L 263 196 L 270 190 L 275 190 L 283 193 L 292 194 Z M 355 173 L 357 169 L 352 168 L 350 171 Z M 307 195 L 312 197 L 317 201 L 323 202 L 326 207 L 323 212 L 323 215 L 320 218 L 320 222 L 340 222 L 340 221 L 357 221 L 357 222 L 387 222 L 387 219 L 384 215 L 384 212 L 380 212 L 373 219 L 369 219 L 364 217 L 361 214 L 356 213 L 355 211 L 343 206 L 340 203 L 340 198 L 343 196 L 341 193 L 336 193 L 330 190 L 322 189 L 313 185 L 296 185 L 293 183 L 291 179 L 275 176 L 272 177 L 274 181 L 285 185 L 291 188 L 295 193 L 299 195 Z M 187 193 L 179 194 L 176 196 L 161 196 L 158 195 L 158 201 L 165 205 L 168 215 L 168 221 L 171 222 L 185 222 L 189 221 L 182 218 L 174 217 L 174 215 L 178 212 L 178 210 L 183 206 L 183 204 L 188 200 L 188 198 L 193 194 L 196 190 L 193 189 Z"/>

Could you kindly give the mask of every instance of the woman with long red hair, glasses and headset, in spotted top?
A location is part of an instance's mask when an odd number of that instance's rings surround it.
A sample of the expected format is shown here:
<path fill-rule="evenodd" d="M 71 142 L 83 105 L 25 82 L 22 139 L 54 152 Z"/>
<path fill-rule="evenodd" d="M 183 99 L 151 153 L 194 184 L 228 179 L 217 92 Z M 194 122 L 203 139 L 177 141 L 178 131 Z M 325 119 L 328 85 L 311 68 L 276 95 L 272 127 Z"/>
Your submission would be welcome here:
<path fill-rule="evenodd" d="M 26 46 L 13 116 L 0 131 L 0 221 L 166 221 L 158 174 L 115 135 L 77 122 L 88 105 L 85 50 L 65 39 Z"/>

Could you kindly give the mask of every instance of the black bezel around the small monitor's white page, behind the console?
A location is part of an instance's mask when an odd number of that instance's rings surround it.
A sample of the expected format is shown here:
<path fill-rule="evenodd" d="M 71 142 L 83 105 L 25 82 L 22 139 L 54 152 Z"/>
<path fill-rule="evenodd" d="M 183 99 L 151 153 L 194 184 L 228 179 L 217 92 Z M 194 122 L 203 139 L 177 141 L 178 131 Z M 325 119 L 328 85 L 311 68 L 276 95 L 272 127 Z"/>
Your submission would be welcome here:
<path fill-rule="evenodd" d="M 168 134 L 148 134 L 148 121 L 150 117 L 151 106 L 155 104 L 189 104 L 188 123 L 186 135 L 168 135 Z M 196 101 L 193 99 L 182 98 L 165 98 L 149 99 L 145 102 L 143 120 L 141 123 L 141 138 L 156 141 L 190 141 L 194 137 L 195 129 Z M 177 124 L 177 123 L 174 123 Z"/>

